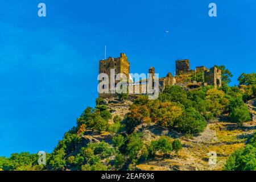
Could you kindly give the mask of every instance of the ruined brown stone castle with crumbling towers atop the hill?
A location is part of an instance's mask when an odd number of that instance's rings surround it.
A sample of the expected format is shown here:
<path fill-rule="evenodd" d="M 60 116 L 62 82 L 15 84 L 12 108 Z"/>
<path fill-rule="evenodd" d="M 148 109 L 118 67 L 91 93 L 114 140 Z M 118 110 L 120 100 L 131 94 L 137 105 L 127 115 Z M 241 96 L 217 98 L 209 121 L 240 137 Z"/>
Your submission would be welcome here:
<path fill-rule="evenodd" d="M 120 57 L 114 58 L 109 57 L 106 60 L 100 60 L 99 64 L 99 73 L 105 73 L 111 79 L 111 70 L 114 69 L 114 84 L 108 82 L 108 85 L 103 85 L 102 88 L 104 89 L 106 86 L 109 88 L 109 92 L 100 93 L 99 97 L 112 97 L 115 93 L 115 86 L 120 82 L 119 80 L 115 80 L 116 76 L 119 73 L 122 73 L 127 77 L 127 89 L 130 93 L 134 94 L 146 94 L 146 84 L 147 79 L 141 79 L 139 81 L 134 81 L 133 77 L 130 75 L 130 63 L 128 61 L 127 56 L 125 53 L 121 53 Z M 153 87 L 155 77 L 155 68 L 151 67 L 148 69 L 148 73 L 151 73 L 152 80 L 153 80 Z M 200 76 L 200 79 L 198 78 Z M 104 79 L 102 78 L 102 81 Z M 196 67 L 195 70 L 190 68 L 189 60 L 177 60 L 176 61 L 176 75 L 173 76 L 172 73 L 167 73 L 166 77 L 159 77 L 159 92 L 163 92 L 164 88 L 167 86 L 172 85 L 179 85 L 185 89 L 195 89 L 199 88 L 200 86 L 207 86 L 212 85 L 214 87 L 221 87 L 221 70 L 217 69 L 216 67 L 212 67 L 210 69 L 201 66 Z M 101 82 L 101 81 L 99 81 Z M 136 86 L 138 85 L 138 86 Z"/>

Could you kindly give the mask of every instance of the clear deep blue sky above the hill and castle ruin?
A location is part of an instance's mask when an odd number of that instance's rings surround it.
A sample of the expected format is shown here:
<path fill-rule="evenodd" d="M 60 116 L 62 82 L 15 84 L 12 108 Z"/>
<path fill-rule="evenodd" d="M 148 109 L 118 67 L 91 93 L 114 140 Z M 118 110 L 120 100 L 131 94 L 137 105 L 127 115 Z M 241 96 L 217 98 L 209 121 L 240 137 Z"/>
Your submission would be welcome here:
<path fill-rule="evenodd" d="M 126 53 L 132 73 L 154 66 L 165 76 L 189 59 L 192 68 L 226 65 L 234 85 L 256 68 L 251 0 L 1 0 L 0 9 L 0 156 L 53 150 L 94 106 L 105 45 L 107 56 Z"/>

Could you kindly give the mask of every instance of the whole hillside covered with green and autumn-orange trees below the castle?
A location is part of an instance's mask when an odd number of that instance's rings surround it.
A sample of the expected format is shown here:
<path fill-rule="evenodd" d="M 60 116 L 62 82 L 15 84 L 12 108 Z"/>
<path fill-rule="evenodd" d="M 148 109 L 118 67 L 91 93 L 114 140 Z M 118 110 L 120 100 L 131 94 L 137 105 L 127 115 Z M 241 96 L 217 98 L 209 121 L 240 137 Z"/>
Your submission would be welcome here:
<path fill-rule="evenodd" d="M 46 164 L 22 152 L 0 157 L 0 170 L 254 170 L 255 102 L 250 86 L 174 85 L 157 100 L 97 98 L 46 154 Z"/>

